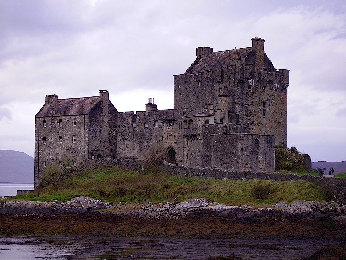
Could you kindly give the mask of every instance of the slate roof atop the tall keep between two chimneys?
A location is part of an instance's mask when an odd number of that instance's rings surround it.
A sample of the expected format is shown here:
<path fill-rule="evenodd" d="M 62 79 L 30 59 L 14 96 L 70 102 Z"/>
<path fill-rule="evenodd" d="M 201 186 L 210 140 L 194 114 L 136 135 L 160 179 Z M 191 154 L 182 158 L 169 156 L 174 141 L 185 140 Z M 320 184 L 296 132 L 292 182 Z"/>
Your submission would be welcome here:
<path fill-rule="evenodd" d="M 219 51 L 209 53 L 207 56 L 200 58 L 194 66 L 189 68 L 187 73 L 198 73 L 204 70 L 208 70 L 208 67 L 211 70 L 221 69 L 222 66 L 231 65 L 230 61 L 233 59 L 242 59 L 245 58 L 252 51 L 252 47 Z"/>

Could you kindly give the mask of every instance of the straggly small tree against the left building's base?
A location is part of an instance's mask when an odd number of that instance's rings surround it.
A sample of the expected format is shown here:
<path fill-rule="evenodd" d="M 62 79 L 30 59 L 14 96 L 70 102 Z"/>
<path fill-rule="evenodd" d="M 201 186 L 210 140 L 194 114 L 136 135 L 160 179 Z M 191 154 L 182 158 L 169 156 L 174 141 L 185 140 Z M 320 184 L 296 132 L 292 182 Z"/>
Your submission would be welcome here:
<path fill-rule="evenodd" d="M 43 179 L 39 183 L 39 187 L 58 185 L 67 176 L 77 174 L 78 169 L 75 166 L 75 162 L 70 159 L 64 159 L 61 167 L 48 165 L 47 169 L 43 172 Z"/>

